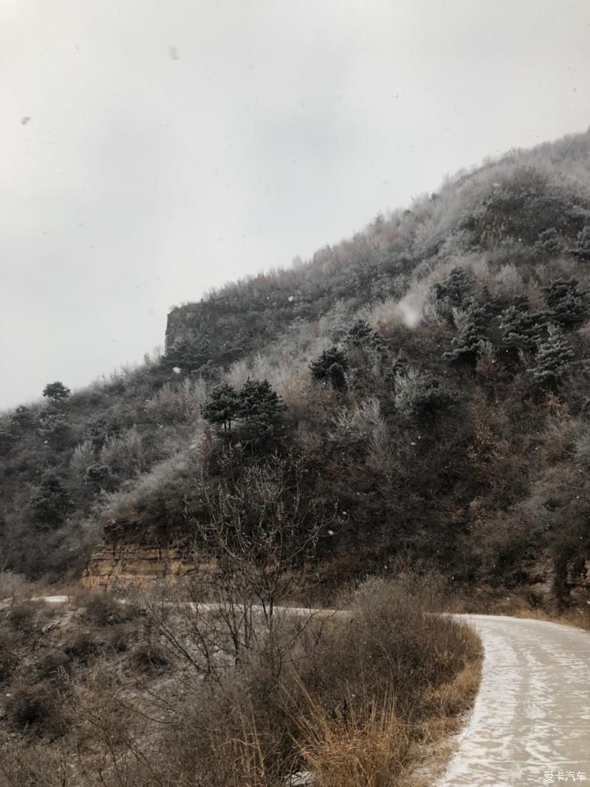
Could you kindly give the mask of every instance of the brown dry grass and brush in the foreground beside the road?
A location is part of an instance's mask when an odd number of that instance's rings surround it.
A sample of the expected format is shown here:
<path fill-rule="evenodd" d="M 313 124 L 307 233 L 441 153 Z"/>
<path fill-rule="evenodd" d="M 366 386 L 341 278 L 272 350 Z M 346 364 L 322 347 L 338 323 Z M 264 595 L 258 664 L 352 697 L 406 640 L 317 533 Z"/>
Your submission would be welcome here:
<path fill-rule="evenodd" d="M 407 785 L 477 686 L 477 637 L 430 614 L 443 595 L 434 576 L 370 580 L 345 615 L 280 615 L 251 633 L 238 662 L 219 618 L 181 598 L 160 604 L 168 639 L 155 607 L 134 615 L 108 594 L 80 608 L 17 604 L 2 613 L 20 644 L 0 704 L 18 689 L 26 712 L 4 703 L 0 785 L 37 785 L 43 763 L 65 787 L 284 787 L 297 770 L 319 787 Z M 195 662 L 197 632 L 215 674 Z M 50 728 L 25 702 L 28 685 L 55 698 Z"/>

